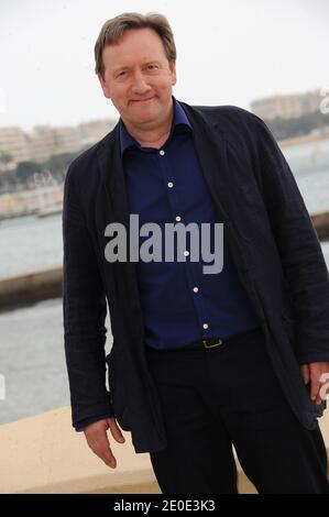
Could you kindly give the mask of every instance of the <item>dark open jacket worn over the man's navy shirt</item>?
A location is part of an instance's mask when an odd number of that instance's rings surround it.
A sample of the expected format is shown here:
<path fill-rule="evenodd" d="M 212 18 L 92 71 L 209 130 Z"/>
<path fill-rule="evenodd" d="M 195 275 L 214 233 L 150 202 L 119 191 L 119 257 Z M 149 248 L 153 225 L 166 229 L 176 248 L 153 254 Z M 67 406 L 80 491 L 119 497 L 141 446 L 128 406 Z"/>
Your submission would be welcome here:
<path fill-rule="evenodd" d="M 182 106 L 277 378 L 299 421 L 314 429 L 326 403 L 309 399 L 299 365 L 329 361 L 329 278 L 294 176 L 256 116 L 233 106 Z M 105 257 L 105 228 L 114 221 L 129 230 L 118 125 L 72 163 L 65 180 L 63 300 L 73 424 L 112 408 L 121 428 L 131 431 L 135 452 L 158 451 L 166 433 L 144 355 L 135 263 Z"/>

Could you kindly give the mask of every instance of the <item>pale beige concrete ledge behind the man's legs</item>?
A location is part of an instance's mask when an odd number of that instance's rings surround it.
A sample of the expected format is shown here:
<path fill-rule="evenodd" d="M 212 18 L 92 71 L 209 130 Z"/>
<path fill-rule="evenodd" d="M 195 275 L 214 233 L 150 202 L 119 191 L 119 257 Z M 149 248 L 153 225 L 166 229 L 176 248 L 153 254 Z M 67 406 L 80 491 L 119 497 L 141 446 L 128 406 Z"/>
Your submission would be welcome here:
<path fill-rule="evenodd" d="M 319 420 L 329 450 L 329 413 Z M 160 494 L 150 455 L 110 438 L 117 469 L 109 469 L 74 431 L 70 408 L 0 426 L 1 494 Z M 239 462 L 239 492 L 256 493 Z"/>

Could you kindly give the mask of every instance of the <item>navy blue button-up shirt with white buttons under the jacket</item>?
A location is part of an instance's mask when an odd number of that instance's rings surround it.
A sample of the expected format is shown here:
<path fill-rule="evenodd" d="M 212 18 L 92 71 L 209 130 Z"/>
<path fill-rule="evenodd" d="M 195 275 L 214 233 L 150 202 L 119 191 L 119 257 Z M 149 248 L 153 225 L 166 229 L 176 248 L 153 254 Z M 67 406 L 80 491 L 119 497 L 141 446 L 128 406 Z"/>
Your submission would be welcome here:
<path fill-rule="evenodd" d="M 221 222 L 221 217 L 204 178 L 191 124 L 174 97 L 173 102 L 171 134 L 158 150 L 142 147 L 120 119 L 130 213 L 139 215 L 140 227 L 156 222 L 162 235 L 168 222 L 194 222 L 198 228 L 210 223 L 213 252 L 215 223 Z M 140 238 L 140 244 L 146 239 Z M 186 242 L 189 253 L 190 240 Z M 174 262 L 136 263 L 146 345 L 176 349 L 199 339 L 227 338 L 260 324 L 234 268 L 224 227 L 222 251 L 223 268 L 217 274 L 204 273 L 207 263 L 202 257 L 193 262 L 189 255 L 184 255 L 185 262 L 179 262 L 176 254 Z M 100 418 L 105 416 L 91 417 L 81 425 Z"/>

